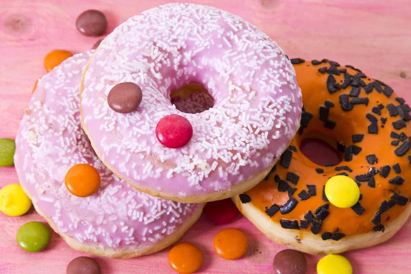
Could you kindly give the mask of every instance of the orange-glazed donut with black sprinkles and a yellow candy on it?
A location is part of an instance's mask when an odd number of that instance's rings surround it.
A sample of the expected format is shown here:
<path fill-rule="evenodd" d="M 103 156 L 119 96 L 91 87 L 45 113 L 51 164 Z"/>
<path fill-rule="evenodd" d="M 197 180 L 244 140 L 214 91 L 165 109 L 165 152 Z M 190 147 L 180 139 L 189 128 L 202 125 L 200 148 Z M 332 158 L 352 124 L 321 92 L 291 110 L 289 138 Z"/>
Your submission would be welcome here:
<path fill-rule="evenodd" d="M 388 240 L 411 214 L 410 106 L 352 66 L 291 61 L 303 93 L 299 132 L 270 175 L 234 202 L 266 236 L 307 253 Z M 312 136 L 331 140 L 343 160 L 310 161 L 300 145 Z"/>

